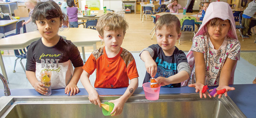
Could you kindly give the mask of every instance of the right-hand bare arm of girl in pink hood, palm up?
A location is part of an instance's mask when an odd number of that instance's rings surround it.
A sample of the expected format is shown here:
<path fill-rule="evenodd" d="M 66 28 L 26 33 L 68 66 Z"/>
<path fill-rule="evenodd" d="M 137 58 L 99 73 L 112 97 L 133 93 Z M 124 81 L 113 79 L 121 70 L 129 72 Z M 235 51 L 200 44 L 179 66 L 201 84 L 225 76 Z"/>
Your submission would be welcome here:
<path fill-rule="evenodd" d="M 224 93 L 225 96 L 227 96 L 228 91 L 235 90 L 234 87 L 228 86 L 228 81 L 230 80 L 230 76 L 232 73 L 232 69 L 234 68 L 235 64 L 237 63 L 236 60 L 231 60 L 230 58 L 227 58 L 225 64 L 223 65 L 221 72 L 220 72 L 220 81 L 219 81 L 219 87 L 217 87 L 217 90 L 226 89 L 226 92 Z M 212 90 L 209 90 L 212 91 Z M 214 94 L 213 97 L 216 97 L 218 94 Z M 218 98 L 221 98 L 222 94 L 219 95 Z"/>

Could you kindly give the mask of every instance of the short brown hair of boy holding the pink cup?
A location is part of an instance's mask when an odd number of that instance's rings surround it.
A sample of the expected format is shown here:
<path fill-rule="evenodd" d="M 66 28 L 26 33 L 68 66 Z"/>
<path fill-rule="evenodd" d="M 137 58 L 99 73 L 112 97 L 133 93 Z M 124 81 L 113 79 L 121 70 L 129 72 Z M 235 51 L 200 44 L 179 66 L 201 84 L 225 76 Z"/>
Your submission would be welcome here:
<path fill-rule="evenodd" d="M 161 30 L 163 27 L 167 29 L 176 26 L 177 33 L 180 33 L 180 20 L 172 14 L 162 15 L 156 22 L 156 30 Z"/>

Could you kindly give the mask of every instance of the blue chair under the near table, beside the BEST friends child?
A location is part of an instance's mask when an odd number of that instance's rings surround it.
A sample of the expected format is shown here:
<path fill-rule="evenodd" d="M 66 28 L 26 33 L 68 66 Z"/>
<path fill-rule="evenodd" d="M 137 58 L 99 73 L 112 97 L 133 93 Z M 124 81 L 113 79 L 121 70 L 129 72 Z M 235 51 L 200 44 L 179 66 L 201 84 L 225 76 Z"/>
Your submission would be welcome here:
<path fill-rule="evenodd" d="M 26 56 L 27 56 L 27 55 L 26 55 L 26 51 L 28 50 L 28 47 L 29 47 L 29 46 L 25 47 L 24 49 L 14 50 L 14 55 L 15 55 L 15 57 L 17 57 L 17 59 L 15 60 L 14 69 L 13 69 L 12 72 L 14 72 L 14 73 L 16 72 L 16 71 L 15 71 L 15 67 L 16 67 L 17 60 L 18 60 L 19 58 L 21 58 L 21 60 L 24 59 L 24 58 L 26 58 Z M 24 72 L 26 73 L 25 68 L 24 68 L 24 66 L 23 66 L 21 60 L 20 60 L 19 62 L 21 63 L 22 69 L 23 69 Z"/>

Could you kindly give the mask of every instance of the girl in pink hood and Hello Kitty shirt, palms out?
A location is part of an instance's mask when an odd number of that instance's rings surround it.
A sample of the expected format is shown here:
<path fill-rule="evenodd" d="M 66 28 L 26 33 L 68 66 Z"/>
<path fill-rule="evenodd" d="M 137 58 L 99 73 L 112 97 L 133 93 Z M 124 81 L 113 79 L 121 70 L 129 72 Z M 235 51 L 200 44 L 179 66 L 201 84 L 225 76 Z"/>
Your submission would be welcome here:
<path fill-rule="evenodd" d="M 235 90 L 234 87 L 228 87 L 228 84 L 233 84 L 235 66 L 237 60 L 240 60 L 241 46 L 229 4 L 213 2 L 208 9 L 187 55 L 192 69 L 188 86 L 195 87 L 200 98 L 202 95 L 205 98 L 206 95 L 211 97 L 208 92 L 202 94 L 204 85 L 219 85 L 217 90 L 226 88 L 225 96 L 228 91 Z"/>

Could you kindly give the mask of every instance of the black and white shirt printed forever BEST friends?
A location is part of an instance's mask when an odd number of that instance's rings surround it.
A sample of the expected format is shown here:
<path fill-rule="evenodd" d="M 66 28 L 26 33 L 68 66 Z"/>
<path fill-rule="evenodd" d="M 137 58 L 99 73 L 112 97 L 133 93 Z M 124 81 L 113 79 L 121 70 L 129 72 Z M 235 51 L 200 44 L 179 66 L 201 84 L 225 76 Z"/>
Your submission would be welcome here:
<path fill-rule="evenodd" d="M 77 47 L 62 37 L 52 47 L 45 46 L 40 38 L 30 44 L 26 54 L 26 71 L 35 72 L 38 81 L 43 74 L 50 73 L 52 89 L 65 88 L 72 78 L 73 66 L 83 66 Z"/>

